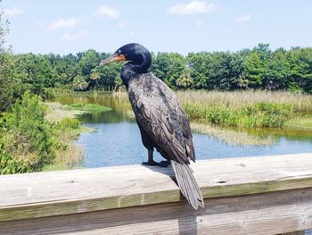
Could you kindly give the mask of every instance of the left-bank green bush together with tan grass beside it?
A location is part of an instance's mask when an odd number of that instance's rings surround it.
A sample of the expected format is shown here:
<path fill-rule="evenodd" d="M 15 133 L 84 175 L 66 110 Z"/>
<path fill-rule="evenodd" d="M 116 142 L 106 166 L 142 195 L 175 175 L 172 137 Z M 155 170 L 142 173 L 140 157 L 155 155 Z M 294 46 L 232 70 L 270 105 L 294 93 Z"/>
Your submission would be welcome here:
<path fill-rule="evenodd" d="M 45 119 L 46 107 L 26 92 L 0 118 L 0 174 L 40 171 L 45 165 L 69 167 L 82 159 L 71 140 L 81 131 L 77 119 Z"/>

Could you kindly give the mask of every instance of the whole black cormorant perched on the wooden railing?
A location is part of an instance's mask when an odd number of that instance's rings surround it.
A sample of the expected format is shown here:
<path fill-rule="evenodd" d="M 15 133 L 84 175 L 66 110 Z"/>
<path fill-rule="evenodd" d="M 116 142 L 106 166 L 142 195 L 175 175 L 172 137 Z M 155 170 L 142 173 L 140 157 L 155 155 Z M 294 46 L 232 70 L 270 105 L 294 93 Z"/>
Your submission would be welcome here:
<path fill-rule="evenodd" d="M 121 46 L 100 64 L 116 61 L 127 61 L 121 70 L 121 80 L 148 150 L 148 162 L 143 164 L 172 164 L 184 197 L 194 209 L 203 207 L 201 189 L 189 167 L 189 158 L 195 161 L 195 152 L 190 123 L 182 105 L 172 90 L 148 71 L 152 56 L 144 46 L 135 43 Z M 168 161 L 156 163 L 152 156 L 154 147 Z"/>

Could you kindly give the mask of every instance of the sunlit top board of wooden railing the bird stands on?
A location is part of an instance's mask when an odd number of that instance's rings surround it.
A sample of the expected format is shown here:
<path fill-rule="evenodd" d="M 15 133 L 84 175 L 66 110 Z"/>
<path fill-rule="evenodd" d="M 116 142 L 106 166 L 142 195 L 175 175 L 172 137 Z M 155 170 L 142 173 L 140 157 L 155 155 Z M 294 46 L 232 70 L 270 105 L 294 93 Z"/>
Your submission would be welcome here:
<path fill-rule="evenodd" d="M 312 187 L 312 154 L 198 161 L 203 196 Z M 0 176 L 0 222 L 182 200 L 171 167 L 128 165 Z"/>

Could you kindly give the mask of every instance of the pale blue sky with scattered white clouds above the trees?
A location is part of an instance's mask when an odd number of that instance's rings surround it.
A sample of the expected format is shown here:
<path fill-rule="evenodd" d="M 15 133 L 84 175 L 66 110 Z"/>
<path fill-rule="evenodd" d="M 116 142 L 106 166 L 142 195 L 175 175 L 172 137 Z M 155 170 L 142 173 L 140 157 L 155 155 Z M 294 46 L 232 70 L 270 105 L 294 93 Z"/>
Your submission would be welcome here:
<path fill-rule="evenodd" d="M 312 46 L 309 0 L 3 0 L 15 53 L 113 52 L 130 42 L 154 52 Z"/>

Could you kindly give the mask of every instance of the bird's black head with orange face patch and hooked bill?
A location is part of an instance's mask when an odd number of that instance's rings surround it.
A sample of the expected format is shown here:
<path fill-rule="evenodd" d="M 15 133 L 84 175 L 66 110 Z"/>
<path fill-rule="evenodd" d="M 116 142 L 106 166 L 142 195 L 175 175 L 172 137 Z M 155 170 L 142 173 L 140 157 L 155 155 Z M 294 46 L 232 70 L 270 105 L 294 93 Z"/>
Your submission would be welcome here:
<path fill-rule="evenodd" d="M 151 66 L 152 56 L 144 46 L 130 43 L 121 46 L 111 57 L 101 61 L 100 65 L 118 61 L 128 61 L 137 71 L 144 72 Z"/>

